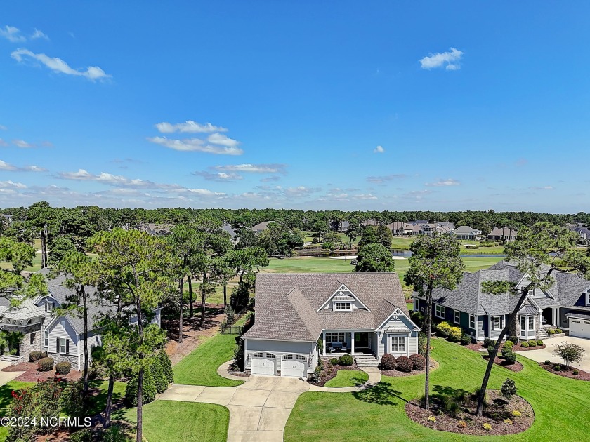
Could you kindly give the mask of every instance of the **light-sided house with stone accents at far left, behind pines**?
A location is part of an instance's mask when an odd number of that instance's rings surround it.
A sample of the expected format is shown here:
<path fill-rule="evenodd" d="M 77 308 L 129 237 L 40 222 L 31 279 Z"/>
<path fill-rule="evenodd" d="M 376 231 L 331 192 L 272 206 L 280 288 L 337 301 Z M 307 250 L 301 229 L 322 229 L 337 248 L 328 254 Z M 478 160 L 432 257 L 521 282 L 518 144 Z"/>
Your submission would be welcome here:
<path fill-rule="evenodd" d="M 48 275 L 48 269 L 41 272 Z M 24 334 L 17 354 L 24 356 L 25 360 L 28 360 L 31 351 L 46 351 L 56 363 L 68 361 L 72 369 L 81 370 L 84 368 L 84 320 L 77 316 L 55 315 L 55 309 L 61 307 L 66 297 L 73 293 L 73 290 L 63 286 L 64 280 L 65 276 L 48 280 L 47 296 L 27 299 L 17 309 L 11 309 L 8 301 L 3 300 L 5 302 L 0 304 L 0 328 Z M 89 295 L 95 292 L 96 288 L 86 287 Z M 95 330 L 95 319 L 98 313 L 109 309 L 89 304 L 89 349 L 101 344 L 100 335 Z M 152 322 L 161 325 L 160 309 L 155 310 Z M 137 318 L 131 318 L 130 323 L 137 323 Z"/>

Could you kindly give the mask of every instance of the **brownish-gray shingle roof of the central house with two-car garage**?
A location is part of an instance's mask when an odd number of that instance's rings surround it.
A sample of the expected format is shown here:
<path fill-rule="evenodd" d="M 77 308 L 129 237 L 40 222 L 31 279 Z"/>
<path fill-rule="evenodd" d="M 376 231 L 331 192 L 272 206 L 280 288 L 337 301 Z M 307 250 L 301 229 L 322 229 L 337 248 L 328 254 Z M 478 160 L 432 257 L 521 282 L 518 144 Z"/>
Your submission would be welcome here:
<path fill-rule="evenodd" d="M 369 311 L 317 312 L 341 284 Z M 324 329 L 374 329 L 395 308 L 409 315 L 395 273 L 257 274 L 256 322 L 244 337 L 315 341 Z"/>

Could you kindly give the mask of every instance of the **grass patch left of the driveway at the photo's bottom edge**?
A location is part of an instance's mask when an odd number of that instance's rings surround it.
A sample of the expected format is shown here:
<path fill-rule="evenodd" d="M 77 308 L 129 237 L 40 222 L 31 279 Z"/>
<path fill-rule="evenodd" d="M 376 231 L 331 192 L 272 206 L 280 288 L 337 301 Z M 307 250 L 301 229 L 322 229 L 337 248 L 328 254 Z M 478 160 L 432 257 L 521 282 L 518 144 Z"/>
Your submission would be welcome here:
<path fill-rule="evenodd" d="M 137 408 L 125 418 L 137 422 Z M 230 410 L 212 403 L 154 401 L 143 407 L 143 436 L 149 442 L 225 442 Z"/>

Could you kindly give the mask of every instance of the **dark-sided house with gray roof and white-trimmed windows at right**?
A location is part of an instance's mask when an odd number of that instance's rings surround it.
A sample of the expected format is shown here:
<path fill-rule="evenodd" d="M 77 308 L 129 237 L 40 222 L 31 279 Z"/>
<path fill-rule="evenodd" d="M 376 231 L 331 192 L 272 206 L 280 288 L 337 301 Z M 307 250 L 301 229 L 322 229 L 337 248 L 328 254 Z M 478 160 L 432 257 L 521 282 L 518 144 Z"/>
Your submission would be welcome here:
<path fill-rule="evenodd" d="M 590 281 L 567 272 L 554 272 L 553 276 L 556 282 L 549 290 L 535 289 L 528 295 L 510 335 L 521 340 L 544 339 L 548 328 L 561 328 L 571 336 L 590 338 Z M 465 272 L 455 290 L 434 290 L 433 318 L 464 328 L 473 340 L 496 339 L 518 302 L 518 297 L 509 293 L 482 293 L 483 281 L 500 280 L 513 281 L 518 287 L 530 282 L 515 264 L 504 261 L 487 270 Z M 414 310 L 424 313 L 425 305 L 414 293 Z"/>

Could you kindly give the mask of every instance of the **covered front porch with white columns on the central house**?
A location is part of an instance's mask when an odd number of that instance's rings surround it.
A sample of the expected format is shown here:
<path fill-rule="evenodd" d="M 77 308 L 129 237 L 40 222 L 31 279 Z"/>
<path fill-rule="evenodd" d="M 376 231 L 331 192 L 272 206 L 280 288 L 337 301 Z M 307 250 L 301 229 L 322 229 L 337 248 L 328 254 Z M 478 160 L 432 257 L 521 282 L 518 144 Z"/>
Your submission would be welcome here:
<path fill-rule="evenodd" d="M 342 356 L 343 354 L 376 356 L 377 335 L 373 330 L 343 331 L 324 330 L 322 332 L 322 356 Z"/>

